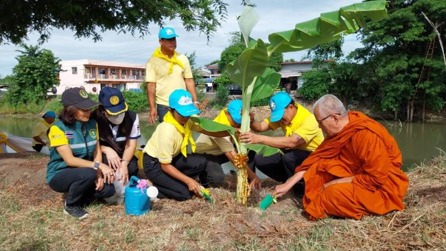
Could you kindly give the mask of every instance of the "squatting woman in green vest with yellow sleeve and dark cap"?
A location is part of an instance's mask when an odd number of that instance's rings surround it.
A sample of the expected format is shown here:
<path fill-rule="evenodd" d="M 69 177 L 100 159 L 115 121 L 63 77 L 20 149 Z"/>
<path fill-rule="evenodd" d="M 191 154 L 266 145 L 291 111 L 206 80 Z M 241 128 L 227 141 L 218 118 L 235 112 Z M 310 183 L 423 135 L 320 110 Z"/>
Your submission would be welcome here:
<path fill-rule="evenodd" d="M 90 119 L 97 102 L 84 89 L 69 88 L 62 93 L 62 104 L 60 121 L 49 128 L 47 182 L 54 191 L 67 193 L 64 213 L 83 219 L 88 215 L 82 207 L 85 198 L 109 198 L 115 193 L 115 174 L 102 163 L 97 124 Z"/>

